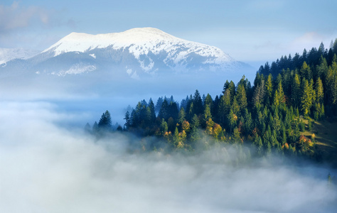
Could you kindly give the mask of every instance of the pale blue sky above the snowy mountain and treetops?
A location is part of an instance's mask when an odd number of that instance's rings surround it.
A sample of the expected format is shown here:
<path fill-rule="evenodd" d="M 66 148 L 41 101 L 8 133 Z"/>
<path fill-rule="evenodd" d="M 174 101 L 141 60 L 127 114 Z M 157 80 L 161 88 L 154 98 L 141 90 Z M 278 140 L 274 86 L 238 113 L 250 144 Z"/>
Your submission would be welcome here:
<path fill-rule="evenodd" d="M 337 1 L 9 1 L 0 3 L 0 48 L 43 50 L 71 32 L 154 27 L 214 45 L 244 62 L 276 60 L 337 38 Z"/>

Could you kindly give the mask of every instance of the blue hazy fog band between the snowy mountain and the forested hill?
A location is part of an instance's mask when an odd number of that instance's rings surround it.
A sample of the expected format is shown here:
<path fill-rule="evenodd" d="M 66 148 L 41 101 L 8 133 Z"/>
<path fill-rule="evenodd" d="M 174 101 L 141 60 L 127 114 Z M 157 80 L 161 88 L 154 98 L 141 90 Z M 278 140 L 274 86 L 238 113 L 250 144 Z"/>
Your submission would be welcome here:
<path fill-rule="evenodd" d="M 3 73 L 1 73 L 3 74 Z M 106 72 L 92 72 L 84 75 L 0 75 L 0 100 L 42 101 L 56 105 L 59 111 L 85 114 L 77 117 L 70 124 L 84 126 L 99 121 L 106 110 L 112 114 L 113 124 L 124 124 L 127 107 L 136 107 L 143 99 L 150 98 L 156 104 L 159 97 L 171 97 L 181 102 L 196 89 L 201 95 L 210 93 L 215 98 L 223 91 L 226 80 L 235 84 L 242 75 L 235 72 L 228 74 L 162 75 L 143 77 L 139 80 L 130 77 L 118 77 Z M 255 73 L 246 77 L 253 82 Z"/>

